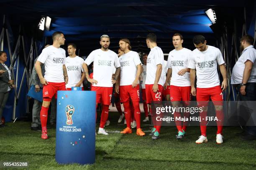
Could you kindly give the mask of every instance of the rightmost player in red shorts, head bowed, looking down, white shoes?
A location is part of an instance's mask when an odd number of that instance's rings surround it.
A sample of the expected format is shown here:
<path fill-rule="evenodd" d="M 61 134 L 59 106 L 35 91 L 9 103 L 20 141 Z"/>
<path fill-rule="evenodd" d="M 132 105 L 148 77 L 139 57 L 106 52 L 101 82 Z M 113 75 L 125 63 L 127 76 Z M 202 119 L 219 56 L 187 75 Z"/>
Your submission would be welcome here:
<path fill-rule="evenodd" d="M 200 112 L 201 136 L 196 143 L 206 143 L 206 116 L 207 104 L 211 98 L 217 117 L 217 135 L 216 143 L 223 143 L 223 94 L 222 92 L 228 86 L 227 70 L 220 50 L 216 47 L 206 45 L 205 37 L 196 35 L 193 38 L 193 43 L 196 47 L 192 51 L 189 58 L 191 94 L 197 97 L 198 107 L 202 107 Z M 220 79 L 217 72 L 217 64 L 220 66 L 220 72 L 223 77 L 223 82 L 220 86 Z M 197 74 L 197 90 L 195 89 L 195 74 Z"/>

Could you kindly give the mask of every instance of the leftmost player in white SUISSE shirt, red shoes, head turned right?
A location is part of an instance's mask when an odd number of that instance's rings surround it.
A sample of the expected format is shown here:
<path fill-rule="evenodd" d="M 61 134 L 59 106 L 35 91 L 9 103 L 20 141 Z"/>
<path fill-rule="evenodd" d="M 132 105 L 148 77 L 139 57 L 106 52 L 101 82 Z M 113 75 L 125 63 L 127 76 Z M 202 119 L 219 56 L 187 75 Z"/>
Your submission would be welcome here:
<path fill-rule="evenodd" d="M 66 52 L 60 46 L 64 45 L 65 37 L 62 32 L 54 32 L 52 35 L 53 44 L 42 50 L 39 55 L 35 68 L 43 87 L 43 104 L 40 111 L 42 126 L 42 139 L 48 139 L 46 123 L 48 109 L 52 97 L 57 98 L 58 90 L 67 90 L 68 83 L 67 69 L 64 65 Z M 44 64 L 45 74 L 42 75 L 41 64 Z"/>

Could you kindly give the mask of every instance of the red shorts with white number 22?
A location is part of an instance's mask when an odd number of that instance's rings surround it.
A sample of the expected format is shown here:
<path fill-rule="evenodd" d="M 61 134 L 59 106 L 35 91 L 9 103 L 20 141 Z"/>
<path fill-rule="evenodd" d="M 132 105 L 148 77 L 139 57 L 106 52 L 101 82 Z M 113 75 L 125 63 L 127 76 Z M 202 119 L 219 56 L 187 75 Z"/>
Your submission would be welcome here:
<path fill-rule="evenodd" d="M 158 92 L 153 92 L 153 85 L 145 85 L 146 86 L 146 99 L 147 103 L 151 103 L 152 101 L 162 101 L 162 92 L 164 87 L 162 85 L 158 85 Z"/>

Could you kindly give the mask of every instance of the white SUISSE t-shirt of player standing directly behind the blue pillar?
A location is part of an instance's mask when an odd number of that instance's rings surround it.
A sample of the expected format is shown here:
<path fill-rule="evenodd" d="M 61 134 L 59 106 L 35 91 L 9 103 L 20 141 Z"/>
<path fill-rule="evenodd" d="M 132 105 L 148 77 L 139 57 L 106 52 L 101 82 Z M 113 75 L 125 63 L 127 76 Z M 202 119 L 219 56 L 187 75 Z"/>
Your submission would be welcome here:
<path fill-rule="evenodd" d="M 82 65 L 84 63 L 84 59 L 81 57 L 66 57 L 64 59 L 64 65 L 67 68 L 67 73 L 69 76 L 67 88 L 75 87 L 75 85 L 81 80 L 82 76 Z M 83 83 L 80 87 L 83 87 Z"/>

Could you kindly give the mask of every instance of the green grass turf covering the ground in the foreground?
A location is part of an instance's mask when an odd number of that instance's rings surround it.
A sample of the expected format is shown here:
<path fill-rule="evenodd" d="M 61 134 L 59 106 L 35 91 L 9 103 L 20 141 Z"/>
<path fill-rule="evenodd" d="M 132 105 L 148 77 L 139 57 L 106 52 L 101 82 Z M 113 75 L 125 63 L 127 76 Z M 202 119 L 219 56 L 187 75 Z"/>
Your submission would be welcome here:
<path fill-rule="evenodd" d="M 123 130 L 125 125 L 117 124 L 119 115 L 110 113 L 107 131 Z M 143 120 L 143 119 L 142 119 Z M 207 127 L 208 143 L 195 144 L 200 136 L 199 127 L 188 127 L 184 140 L 176 140 L 175 127 L 162 127 L 160 139 L 153 141 L 146 135 L 132 134 L 96 136 L 96 163 L 94 165 L 59 165 L 55 161 L 55 129 L 49 129 L 49 139 L 41 140 L 40 132 L 30 130 L 30 122 L 6 123 L 0 128 L 0 169 L 3 162 L 27 162 L 23 169 L 35 170 L 171 170 L 171 169 L 256 169 L 256 141 L 244 141 L 236 136 L 239 127 L 224 127 L 224 143 L 215 142 L 216 127 Z M 151 126 L 142 123 L 143 130 Z M 148 134 L 148 133 L 146 133 Z"/>

